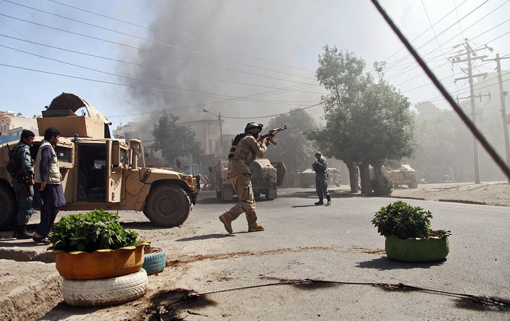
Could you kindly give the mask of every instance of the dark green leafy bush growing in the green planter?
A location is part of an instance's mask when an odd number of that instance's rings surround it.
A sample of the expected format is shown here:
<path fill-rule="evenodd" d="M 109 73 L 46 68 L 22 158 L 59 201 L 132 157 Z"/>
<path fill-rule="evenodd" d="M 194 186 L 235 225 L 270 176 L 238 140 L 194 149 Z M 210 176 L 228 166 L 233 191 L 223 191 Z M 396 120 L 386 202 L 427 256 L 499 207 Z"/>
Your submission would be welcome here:
<path fill-rule="evenodd" d="M 430 211 L 396 201 L 375 212 L 372 224 L 382 236 L 426 238 L 430 234 L 431 218 Z"/>

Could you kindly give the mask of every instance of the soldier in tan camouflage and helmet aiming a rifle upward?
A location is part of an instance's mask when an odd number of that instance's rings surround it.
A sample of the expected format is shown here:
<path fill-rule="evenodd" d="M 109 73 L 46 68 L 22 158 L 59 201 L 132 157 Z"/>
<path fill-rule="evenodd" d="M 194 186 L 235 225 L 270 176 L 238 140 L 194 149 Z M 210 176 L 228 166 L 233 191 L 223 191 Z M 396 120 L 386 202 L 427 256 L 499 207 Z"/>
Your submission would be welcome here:
<path fill-rule="evenodd" d="M 228 233 L 233 232 L 232 221 L 237 219 L 242 212 L 246 213 L 248 232 L 264 230 L 264 226 L 257 223 L 250 173 L 251 163 L 257 156 L 259 158 L 264 157 L 269 144 L 267 138 L 264 138 L 261 143 L 258 142 L 262 126 L 262 124 L 248 123 L 244 128 L 244 133 L 240 133 L 234 139 L 230 154 L 228 154 L 228 177 L 230 177 L 239 199 L 239 203 L 219 217 Z M 275 135 L 275 133 L 272 133 L 271 137 Z"/>

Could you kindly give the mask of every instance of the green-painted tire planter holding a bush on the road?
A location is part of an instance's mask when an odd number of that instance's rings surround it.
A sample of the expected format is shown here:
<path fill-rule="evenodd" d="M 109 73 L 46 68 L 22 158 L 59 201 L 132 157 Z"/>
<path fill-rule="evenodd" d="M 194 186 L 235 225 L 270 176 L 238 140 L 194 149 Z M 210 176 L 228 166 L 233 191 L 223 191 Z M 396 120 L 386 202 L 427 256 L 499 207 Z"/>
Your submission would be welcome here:
<path fill-rule="evenodd" d="M 438 261 L 444 259 L 450 251 L 447 234 L 442 237 L 405 239 L 390 235 L 386 237 L 385 249 L 389 258 L 405 262 Z"/>

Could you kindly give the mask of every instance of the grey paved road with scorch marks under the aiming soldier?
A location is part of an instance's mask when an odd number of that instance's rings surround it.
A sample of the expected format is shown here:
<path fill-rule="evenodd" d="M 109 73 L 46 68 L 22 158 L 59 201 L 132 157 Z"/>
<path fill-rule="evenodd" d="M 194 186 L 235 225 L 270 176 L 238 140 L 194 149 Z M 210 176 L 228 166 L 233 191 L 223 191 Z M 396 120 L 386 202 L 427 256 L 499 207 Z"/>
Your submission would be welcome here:
<path fill-rule="evenodd" d="M 282 189 L 277 199 L 257 203 L 263 232 L 246 232 L 241 216 L 233 222 L 234 233 L 226 233 L 218 216 L 231 205 L 210 191 L 200 193 L 181 228 L 154 228 L 139 213 L 122 212 L 123 225 L 164 249 L 170 266 L 149 277 L 143 300 L 73 312 L 60 304 L 41 320 L 510 318 L 509 310 L 456 296 L 368 285 L 403 283 L 510 299 L 508 207 L 407 200 L 432 212 L 432 228 L 449 229 L 452 235 L 446 260 L 404 263 L 381 253 L 384 237 L 370 223 L 375 211 L 397 199 L 334 195 L 325 207 L 313 205 L 313 192 L 298 190 Z M 268 285 L 301 279 L 355 284 Z M 220 291 L 170 304 L 182 298 L 183 291 L 176 289 Z"/>

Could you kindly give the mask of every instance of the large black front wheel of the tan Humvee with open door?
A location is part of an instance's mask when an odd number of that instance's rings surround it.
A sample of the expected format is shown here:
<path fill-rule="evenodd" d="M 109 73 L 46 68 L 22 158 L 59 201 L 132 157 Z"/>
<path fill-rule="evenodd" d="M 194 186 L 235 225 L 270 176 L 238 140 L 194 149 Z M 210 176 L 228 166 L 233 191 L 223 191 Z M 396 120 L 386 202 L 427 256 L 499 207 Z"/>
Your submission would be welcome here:
<path fill-rule="evenodd" d="M 161 184 L 150 189 L 143 213 L 158 226 L 173 227 L 186 221 L 190 207 L 190 198 L 182 188 L 174 184 Z"/>

